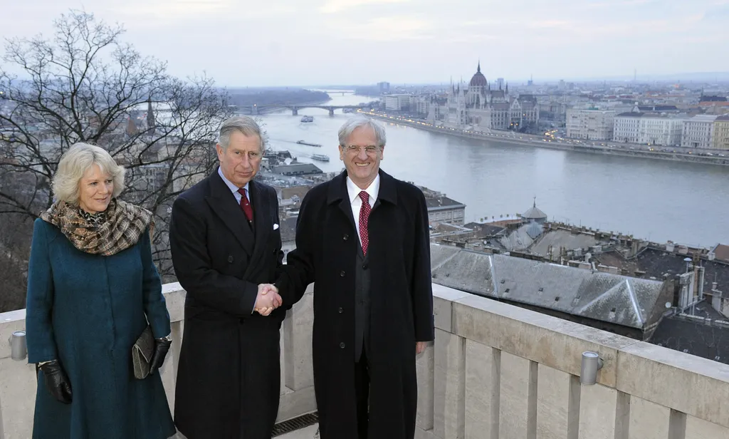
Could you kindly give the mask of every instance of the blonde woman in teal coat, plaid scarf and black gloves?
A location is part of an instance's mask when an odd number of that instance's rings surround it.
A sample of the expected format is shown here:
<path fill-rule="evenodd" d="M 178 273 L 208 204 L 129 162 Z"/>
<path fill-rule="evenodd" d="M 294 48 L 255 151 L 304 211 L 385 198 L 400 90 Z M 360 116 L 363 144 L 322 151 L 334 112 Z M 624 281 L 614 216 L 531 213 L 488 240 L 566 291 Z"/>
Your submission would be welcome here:
<path fill-rule="evenodd" d="M 159 373 L 133 376 L 152 327 L 152 370 L 170 318 L 152 263 L 152 213 L 117 200 L 124 168 L 75 144 L 58 163 L 57 201 L 36 219 L 28 266 L 28 362 L 38 364 L 33 438 L 166 439 L 175 434 Z"/>

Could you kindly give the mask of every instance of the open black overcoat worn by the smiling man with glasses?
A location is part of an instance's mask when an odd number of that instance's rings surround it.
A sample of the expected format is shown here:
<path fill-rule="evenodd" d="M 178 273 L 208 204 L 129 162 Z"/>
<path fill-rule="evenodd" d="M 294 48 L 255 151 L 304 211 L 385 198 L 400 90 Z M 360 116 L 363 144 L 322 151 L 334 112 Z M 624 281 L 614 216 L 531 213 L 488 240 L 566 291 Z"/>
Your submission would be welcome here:
<path fill-rule="evenodd" d="M 429 222 L 418 187 L 380 171 L 369 218 L 371 439 L 412 439 L 416 341 L 432 341 Z M 346 172 L 304 198 L 296 249 L 277 282 L 284 303 L 314 283 L 313 373 L 322 439 L 356 438 L 354 268 L 358 236 Z"/>

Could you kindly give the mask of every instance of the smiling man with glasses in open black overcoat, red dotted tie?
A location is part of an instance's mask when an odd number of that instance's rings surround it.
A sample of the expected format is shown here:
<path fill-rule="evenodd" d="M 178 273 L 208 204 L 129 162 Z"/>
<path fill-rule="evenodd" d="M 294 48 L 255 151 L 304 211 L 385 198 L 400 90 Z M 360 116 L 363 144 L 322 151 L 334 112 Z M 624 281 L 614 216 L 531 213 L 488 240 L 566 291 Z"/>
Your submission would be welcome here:
<path fill-rule="evenodd" d="M 416 354 L 434 338 L 426 201 L 380 170 L 380 125 L 352 117 L 339 142 L 346 171 L 305 196 L 276 287 L 286 305 L 314 282 L 321 439 L 413 439 Z"/>

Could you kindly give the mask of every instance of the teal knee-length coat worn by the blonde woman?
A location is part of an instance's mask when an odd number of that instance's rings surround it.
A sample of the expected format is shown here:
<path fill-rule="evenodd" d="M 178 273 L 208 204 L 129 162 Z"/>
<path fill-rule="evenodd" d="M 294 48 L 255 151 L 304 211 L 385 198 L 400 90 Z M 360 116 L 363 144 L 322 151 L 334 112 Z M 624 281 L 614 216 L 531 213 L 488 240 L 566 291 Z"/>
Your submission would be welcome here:
<path fill-rule="evenodd" d="M 28 266 L 28 362 L 60 360 L 73 402 L 55 400 L 39 372 L 34 439 L 175 434 L 160 374 L 137 380 L 131 365 L 132 345 L 147 319 L 155 338 L 170 333 L 161 288 L 149 233 L 116 255 L 90 255 L 36 219 Z"/>

